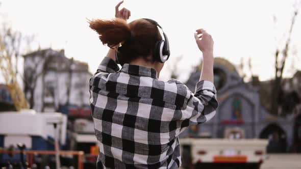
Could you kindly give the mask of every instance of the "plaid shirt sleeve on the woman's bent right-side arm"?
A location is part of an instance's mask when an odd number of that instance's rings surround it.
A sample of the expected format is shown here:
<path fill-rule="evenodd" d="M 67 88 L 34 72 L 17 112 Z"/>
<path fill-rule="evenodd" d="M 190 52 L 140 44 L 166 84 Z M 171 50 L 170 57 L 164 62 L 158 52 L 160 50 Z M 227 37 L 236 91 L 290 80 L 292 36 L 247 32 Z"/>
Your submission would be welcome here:
<path fill-rule="evenodd" d="M 190 92 L 190 91 L 188 91 Z M 218 106 L 216 89 L 211 81 L 202 80 L 196 83 L 195 93 L 190 92 L 190 98 L 183 111 L 186 114 L 186 125 L 205 123 L 215 116 Z"/>

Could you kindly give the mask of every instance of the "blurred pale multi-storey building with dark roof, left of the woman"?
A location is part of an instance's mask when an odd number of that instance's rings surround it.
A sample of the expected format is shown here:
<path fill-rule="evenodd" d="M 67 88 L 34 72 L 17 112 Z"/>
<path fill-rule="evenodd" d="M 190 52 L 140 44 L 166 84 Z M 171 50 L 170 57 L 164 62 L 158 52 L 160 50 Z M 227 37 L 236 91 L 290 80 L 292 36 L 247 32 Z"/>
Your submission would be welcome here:
<path fill-rule="evenodd" d="M 64 50 L 38 50 L 23 57 L 24 93 L 31 108 L 90 115 L 89 78 L 92 74 L 86 63 L 66 58 Z"/>

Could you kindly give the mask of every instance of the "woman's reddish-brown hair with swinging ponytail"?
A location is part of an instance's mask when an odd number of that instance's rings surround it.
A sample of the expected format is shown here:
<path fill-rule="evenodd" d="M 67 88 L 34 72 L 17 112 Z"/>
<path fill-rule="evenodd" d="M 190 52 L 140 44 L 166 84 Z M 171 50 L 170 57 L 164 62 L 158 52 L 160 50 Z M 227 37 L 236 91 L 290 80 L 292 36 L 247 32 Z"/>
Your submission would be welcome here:
<path fill-rule="evenodd" d="M 92 20 L 89 22 L 104 45 L 113 47 L 122 44 L 118 51 L 123 63 L 130 63 L 138 57 L 146 58 L 153 53 L 157 41 L 162 37 L 157 26 L 145 19 L 137 19 L 129 24 L 123 19 Z"/>

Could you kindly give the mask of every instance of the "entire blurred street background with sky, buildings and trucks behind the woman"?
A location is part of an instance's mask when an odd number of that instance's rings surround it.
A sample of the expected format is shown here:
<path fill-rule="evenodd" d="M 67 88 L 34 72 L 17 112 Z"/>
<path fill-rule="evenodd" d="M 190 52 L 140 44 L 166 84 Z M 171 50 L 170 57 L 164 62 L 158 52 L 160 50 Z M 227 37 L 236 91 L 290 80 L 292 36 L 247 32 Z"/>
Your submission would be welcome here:
<path fill-rule="evenodd" d="M 108 47 L 87 20 L 114 18 L 118 2 L 0 0 L 1 167 L 95 168 L 88 81 Z M 203 28 L 214 39 L 219 107 L 210 122 L 182 133 L 183 168 L 301 167 L 300 1 L 123 7 L 129 21 L 160 23 L 171 50 L 160 79 L 177 78 L 191 91 L 202 69 L 193 33 Z"/>

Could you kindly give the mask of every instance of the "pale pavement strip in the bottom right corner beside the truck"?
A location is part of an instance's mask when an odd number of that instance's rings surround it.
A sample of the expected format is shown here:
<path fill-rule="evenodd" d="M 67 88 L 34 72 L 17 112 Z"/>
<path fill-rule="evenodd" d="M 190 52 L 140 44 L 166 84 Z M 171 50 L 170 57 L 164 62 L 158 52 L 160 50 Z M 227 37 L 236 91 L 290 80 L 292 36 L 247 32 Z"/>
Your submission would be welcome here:
<path fill-rule="evenodd" d="M 301 154 L 268 154 L 260 169 L 301 169 Z"/>

